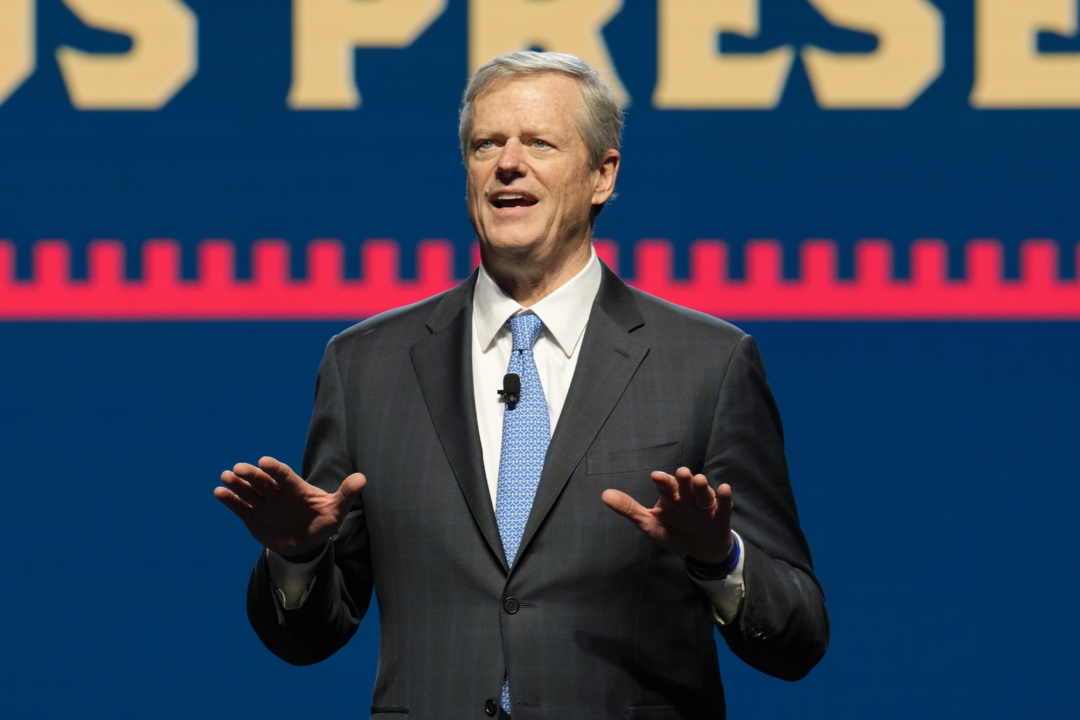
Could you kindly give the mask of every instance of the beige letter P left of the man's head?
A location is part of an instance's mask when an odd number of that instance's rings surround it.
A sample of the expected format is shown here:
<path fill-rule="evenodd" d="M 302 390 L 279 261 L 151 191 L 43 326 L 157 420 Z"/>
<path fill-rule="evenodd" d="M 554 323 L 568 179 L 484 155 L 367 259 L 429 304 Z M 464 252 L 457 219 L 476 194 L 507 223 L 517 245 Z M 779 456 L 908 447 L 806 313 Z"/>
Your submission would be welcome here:
<path fill-rule="evenodd" d="M 356 47 L 408 47 L 446 10 L 446 0 L 293 0 L 295 110 L 360 107 Z"/>

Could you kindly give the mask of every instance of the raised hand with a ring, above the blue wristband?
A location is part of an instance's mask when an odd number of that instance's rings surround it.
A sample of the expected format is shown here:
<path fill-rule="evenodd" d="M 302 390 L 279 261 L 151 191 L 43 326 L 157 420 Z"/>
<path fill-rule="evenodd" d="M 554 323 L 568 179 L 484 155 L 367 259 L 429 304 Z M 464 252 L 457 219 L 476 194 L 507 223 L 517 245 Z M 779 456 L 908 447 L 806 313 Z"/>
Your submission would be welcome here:
<path fill-rule="evenodd" d="M 703 563 L 721 562 L 731 552 L 731 487 L 715 491 L 704 475 L 679 467 L 675 475 L 654 472 L 660 500 L 649 508 L 619 490 L 605 490 L 604 504 L 627 518 L 664 549 Z"/>

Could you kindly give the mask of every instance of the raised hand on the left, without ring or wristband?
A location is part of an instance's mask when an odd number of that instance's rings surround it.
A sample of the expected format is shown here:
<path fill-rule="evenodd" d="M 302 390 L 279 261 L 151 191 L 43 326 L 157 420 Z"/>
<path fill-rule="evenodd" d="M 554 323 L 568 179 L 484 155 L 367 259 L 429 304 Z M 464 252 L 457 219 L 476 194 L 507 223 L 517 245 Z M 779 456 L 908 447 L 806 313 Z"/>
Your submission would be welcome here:
<path fill-rule="evenodd" d="M 214 497 L 244 521 L 255 540 L 281 555 L 301 555 L 337 532 L 367 478 L 353 473 L 337 492 L 324 492 L 285 463 L 260 458 L 258 466 L 242 462 L 225 471 L 221 483 L 225 487 L 214 488 Z"/>

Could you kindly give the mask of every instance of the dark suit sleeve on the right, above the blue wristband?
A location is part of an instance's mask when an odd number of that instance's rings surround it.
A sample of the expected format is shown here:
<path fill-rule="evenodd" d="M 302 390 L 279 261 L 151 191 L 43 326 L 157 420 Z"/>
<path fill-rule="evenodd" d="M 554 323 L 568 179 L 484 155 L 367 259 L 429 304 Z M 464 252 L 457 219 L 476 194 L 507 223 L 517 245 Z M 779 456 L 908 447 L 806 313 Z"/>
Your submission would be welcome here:
<path fill-rule="evenodd" d="M 708 446 L 704 474 L 731 486 L 745 553 L 746 595 L 720 635 L 752 667 L 798 680 L 825 654 L 828 611 L 795 510 L 780 412 L 748 335 L 728 362 Z"/>

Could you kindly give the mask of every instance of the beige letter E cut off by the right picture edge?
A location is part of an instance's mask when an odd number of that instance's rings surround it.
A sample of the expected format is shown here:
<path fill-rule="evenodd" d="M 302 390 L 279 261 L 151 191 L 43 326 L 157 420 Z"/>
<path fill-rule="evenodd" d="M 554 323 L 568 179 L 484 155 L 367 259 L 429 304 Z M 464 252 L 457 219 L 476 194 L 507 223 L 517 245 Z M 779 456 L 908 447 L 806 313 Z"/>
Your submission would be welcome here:
<path fill-rule="evenodd" d="M 1077 32 L 1077 0 L 978 0 L 976 108 L 1080 107 L 1080 53 L 1040 53 L 1040 30 Z"/>

